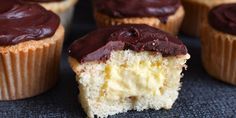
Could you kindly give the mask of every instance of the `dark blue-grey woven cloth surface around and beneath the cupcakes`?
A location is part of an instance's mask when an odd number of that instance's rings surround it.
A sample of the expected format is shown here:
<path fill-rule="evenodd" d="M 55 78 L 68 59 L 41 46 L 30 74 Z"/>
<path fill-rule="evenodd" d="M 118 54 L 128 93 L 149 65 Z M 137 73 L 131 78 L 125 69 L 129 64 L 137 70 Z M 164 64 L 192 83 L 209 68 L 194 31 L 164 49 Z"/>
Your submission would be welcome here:
<path fill-rule="evenodd" d="M 50 91 L 39 96 L 0 102 L 0 117 L 5 118 L 44 118 L 44 117 L 86 117 L 77 101 L 77 84 L 74 73 L 67 63 L 66 49 L 75 39 L 95 29 L 90 0 L 80 0 L 75 10 L 71 31 L 64 46 L 61 73 L 58 84 Z M 198 38 L 180 35 L 191 54 L 188 70 L 182 78 L 179 98 L 171 110 L 130 111 L 112 118 L 236 118 L 236 87 L 210 77 L 201 65 L 200 42 Z"/>

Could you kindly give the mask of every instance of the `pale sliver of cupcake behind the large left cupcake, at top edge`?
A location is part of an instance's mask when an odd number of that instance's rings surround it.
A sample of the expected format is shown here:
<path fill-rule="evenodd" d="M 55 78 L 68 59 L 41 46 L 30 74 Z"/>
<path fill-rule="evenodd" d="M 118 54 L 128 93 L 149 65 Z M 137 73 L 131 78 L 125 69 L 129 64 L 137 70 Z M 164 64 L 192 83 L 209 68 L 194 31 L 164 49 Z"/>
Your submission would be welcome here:
<path fill-rule="evenodd" d="M 32 3 L 40 3 L 43 7 L 60 16 L 61 23 L 66 30 L 69 29 L 74 14 L 74 6 L 77 0 L 21 0 Z"/>

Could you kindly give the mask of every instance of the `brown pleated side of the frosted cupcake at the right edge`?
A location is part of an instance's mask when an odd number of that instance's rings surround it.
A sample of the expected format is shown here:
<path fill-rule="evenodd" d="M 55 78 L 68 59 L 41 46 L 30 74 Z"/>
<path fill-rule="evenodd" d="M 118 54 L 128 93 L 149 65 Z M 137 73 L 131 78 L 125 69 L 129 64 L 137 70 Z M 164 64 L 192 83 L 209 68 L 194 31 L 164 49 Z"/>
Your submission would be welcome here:
<path fill-rule="evenodd" d="M 236 85 L 236 36 L 218 32 L 209 25 L 201 32 L 202 60 L 207 72 Z"/>

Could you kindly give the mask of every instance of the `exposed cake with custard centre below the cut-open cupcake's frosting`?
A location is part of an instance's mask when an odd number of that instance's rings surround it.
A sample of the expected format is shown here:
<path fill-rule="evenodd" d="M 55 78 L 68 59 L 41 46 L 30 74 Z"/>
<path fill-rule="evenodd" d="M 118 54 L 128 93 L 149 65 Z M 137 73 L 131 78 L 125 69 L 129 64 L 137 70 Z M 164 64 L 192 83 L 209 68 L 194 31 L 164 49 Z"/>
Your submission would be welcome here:
<path fill-rule="evenodd" d="M 170 109 L 178 97 L 182 69 L 190 56 L 163 57 L 156 52 L 112 51 L 105 62 L 78 63 L 80 101 L 89 117 L 128 110 Z"/>

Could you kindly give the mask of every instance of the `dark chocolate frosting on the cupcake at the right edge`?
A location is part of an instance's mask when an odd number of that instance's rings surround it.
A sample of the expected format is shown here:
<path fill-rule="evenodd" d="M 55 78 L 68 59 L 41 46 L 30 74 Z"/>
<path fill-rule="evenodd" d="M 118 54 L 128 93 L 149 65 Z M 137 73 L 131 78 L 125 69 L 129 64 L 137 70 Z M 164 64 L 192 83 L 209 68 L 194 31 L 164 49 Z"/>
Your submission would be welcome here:
<path fill-rule="evenodd" d="M 213 8 L 209 12 L 208 21 L 216 30 L 236 35 L 236 3 Z"/>

